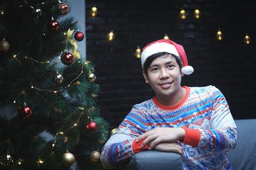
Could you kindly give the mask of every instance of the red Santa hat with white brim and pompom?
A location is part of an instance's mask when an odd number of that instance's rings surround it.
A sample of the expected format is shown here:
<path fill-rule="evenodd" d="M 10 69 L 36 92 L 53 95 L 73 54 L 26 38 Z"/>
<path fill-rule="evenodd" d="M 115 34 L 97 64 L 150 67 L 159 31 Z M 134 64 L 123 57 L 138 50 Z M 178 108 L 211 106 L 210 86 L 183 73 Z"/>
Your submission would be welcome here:
<path fill-rule="evenodd" d="M 142 68 L 144 68 L 144 63 L 146 62 L 146 59 L 154 55 L 158 52 L 168 52 L 171 55 L 175 55 L 178 57 L 178 59 L 181 61 L 182 68 L 181 72 L 183 74 L 189 75 L 193 73 L 193 67 L 188 65 L 188 59 L 186 57 L 185 50 L 182 45 L 178 45 L 176 42 L 173 42 L 171 40 L 157 40 L 154 42 L 151 42 L 149 45 L 146 45 L 142 50 Z"/>

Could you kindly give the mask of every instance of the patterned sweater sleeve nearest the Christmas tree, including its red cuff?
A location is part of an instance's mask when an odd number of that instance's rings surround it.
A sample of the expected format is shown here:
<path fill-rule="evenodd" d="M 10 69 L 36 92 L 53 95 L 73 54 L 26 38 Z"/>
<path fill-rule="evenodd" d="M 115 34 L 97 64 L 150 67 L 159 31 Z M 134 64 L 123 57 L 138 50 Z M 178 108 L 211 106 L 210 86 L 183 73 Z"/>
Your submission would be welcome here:
<path fill-rule="evenodd" d="M 147 149 L 141 147 L 142 142 L 135 142 L 137 137 L 144 133 L 143 118 L 130 112 L 102 148 L 100 160 L 104 168 L 113 168 L 127 162 L 137 152 Z"/>

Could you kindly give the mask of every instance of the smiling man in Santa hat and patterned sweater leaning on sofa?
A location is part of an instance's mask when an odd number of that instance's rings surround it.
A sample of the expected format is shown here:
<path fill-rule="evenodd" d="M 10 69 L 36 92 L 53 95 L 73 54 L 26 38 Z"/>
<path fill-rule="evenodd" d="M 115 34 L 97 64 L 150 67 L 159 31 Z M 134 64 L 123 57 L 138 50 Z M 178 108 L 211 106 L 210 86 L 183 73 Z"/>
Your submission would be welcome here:
<path fill-rule="evenodd" d="M 237 132 L 223 94 L 215 86 L 181 86 L 181 77 L 193 67 L 176 42 L 151 42 L 141 60 L 155 97 L 124 118 L 102 149 L 102 165 L 118 166 L 137 152 L 155 149 L 181 154 L 183 169 L 232 169 L 227 154 Z"/>

